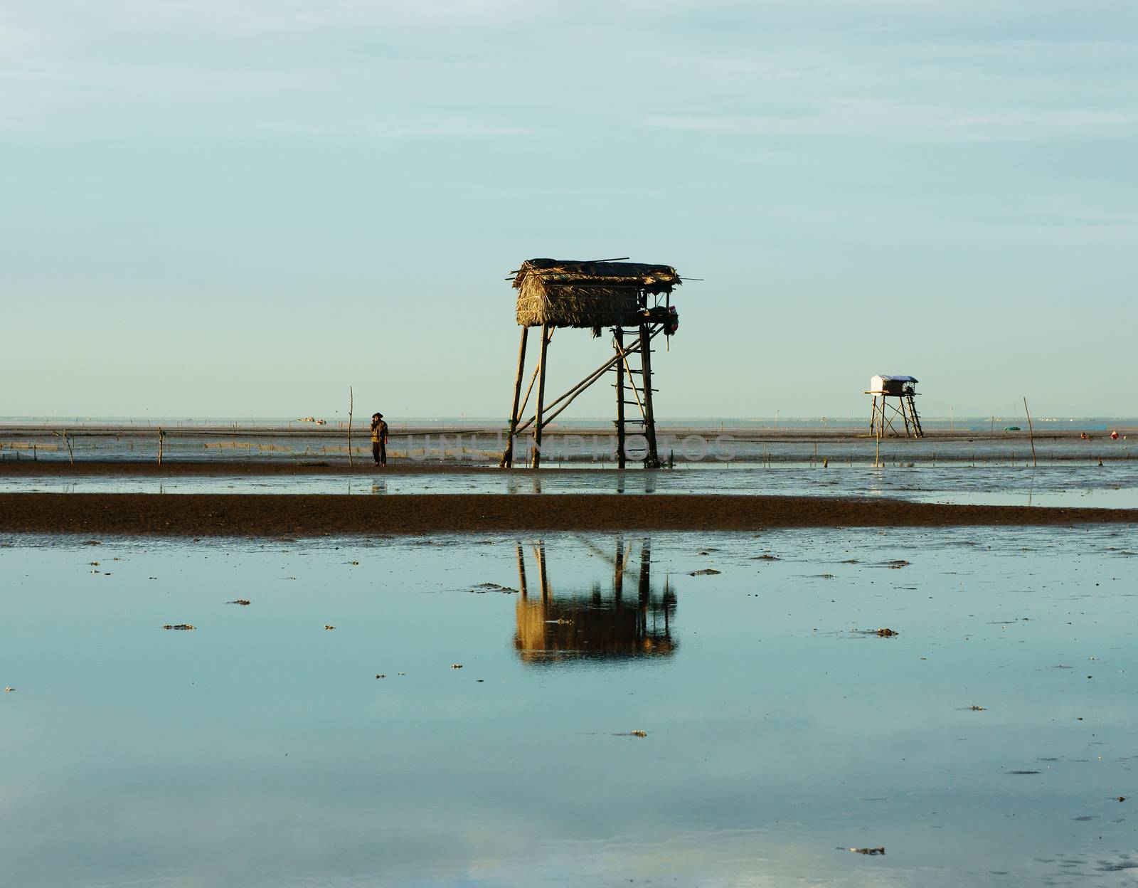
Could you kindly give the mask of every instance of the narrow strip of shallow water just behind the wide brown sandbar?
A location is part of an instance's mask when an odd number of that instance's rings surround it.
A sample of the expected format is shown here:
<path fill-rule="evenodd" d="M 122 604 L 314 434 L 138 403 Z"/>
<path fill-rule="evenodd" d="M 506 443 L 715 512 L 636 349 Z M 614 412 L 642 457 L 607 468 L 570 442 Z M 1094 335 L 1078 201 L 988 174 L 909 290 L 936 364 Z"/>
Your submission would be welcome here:
<path fill-rule="evenodd" d="M 1105 466 L 1066 463 L 887 467 L 753 464 L 676 468 L 671 471 L 407 472 L 368 476 L 0 476 L 0 492 L 60 493 L 733 493 L 818 496 L 892 496 L 992 505 L 1138 508 L 1138 461 Z"/>

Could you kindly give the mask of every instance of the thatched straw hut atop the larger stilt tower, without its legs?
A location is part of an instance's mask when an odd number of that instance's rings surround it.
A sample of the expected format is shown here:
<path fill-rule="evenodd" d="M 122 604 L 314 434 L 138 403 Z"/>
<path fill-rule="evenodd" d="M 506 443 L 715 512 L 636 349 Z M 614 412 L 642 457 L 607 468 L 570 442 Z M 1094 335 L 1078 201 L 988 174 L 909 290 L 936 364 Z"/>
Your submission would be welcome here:
<path fill-rule="evenodd" d="M 671 293 L 671 265 L 533 258 L 512 272 L 522 327 L 615 327 L 632 323 L 644 294 Z"/>

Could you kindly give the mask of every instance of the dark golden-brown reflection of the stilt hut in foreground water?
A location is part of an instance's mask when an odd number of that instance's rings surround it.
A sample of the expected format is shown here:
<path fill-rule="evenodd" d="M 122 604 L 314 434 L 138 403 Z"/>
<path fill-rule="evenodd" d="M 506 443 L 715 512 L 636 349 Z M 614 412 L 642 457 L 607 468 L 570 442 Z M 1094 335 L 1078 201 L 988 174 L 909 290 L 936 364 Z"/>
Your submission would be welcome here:
<path fill-rule="evenodd" d="M 652 587 L 652 553 L 645 538 L 640 544 L 638 567 L 635 546 L 617 540 L 616 558 L 597 554 L 612 564 L 612 587 L 600 582 L 579 592 L 554 594 L 545 567 L 545 545 L 534 546 L 537 587 L 530 589 L 526 556 L 518 544 L 518 628 L 514 648 L 523 663 L 552 663 L 579 658 L 630 659 L 668 656 L 678 643 L 671 638 L 676 595 L 666 577 L 662 589 Z M 627 577 L 626 574 L 632 574 Z M 635 578 L 635 583 L 632 582 Z"/>

